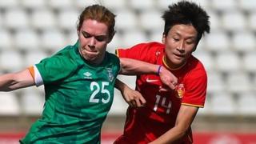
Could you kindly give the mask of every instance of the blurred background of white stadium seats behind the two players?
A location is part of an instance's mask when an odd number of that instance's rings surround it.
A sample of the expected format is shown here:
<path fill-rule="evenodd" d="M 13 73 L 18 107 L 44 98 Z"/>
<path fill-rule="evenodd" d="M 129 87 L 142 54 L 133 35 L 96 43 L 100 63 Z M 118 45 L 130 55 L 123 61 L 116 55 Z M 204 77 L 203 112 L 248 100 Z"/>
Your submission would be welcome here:
<path fill-rule="evenodd" d="M 76 22 L 85 6 L 102 4 L 117 14 L 108 46 L 161 42 L 162 12 L 177 0 L 0 0 L 0 74 L 23 70 L 77 41 Z M 193 123 L 195 143 L 256 143 L 256 1 L 193 0 L 210 15 L 194 55 L 206 67 L 205 108 Z M 119 76 L 134 87 L 135 78 Z M 0 92 L 0 143 L 18 143 L 40 117 L 43 86 Z M 126 102 L 118 90 L 102 128 L 102 143 L 122 133 Z"/>

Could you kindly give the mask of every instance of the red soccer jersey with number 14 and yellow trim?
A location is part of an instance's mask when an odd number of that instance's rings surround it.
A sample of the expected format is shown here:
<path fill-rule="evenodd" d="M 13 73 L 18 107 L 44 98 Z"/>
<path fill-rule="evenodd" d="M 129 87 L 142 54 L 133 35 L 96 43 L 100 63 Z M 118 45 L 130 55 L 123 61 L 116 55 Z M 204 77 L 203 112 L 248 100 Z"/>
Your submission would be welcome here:
<path fill-rule="evenodd" d="M 165 66 L 164 45 L 158 42 L 142 43 L 130 49 L 118 49 L 118 57 L 134 58 Z M 137 77 L 136 90 L 146 99 L 142 108 L 129 107 L 124 134 L 116 143 L 148 143 L 174 127 L 181 105 L 203 107 L 206 99 L 206 70 L 197 58 L 191 55 L 186 65 L 179 70 L 170 70 L 178 78 L 176 90 L 159 92 L 162 82 L 156 74 L 142 74 Z M 191 129 L 181 142 L 191 143 Z"/>

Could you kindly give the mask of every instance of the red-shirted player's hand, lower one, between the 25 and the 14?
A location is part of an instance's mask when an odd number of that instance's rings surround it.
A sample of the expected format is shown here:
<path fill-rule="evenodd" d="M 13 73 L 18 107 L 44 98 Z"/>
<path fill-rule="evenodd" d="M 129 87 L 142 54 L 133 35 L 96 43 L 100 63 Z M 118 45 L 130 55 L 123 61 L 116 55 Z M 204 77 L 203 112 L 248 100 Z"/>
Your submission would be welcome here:
<path fill-rule="evenodd" d="M 123 90 L 122 97 L 132 107 L 142 107 L 146 105 L 146 100 L 142 97 L 142 94 L 137 90 L 130 89 L 128 86 Z"/>

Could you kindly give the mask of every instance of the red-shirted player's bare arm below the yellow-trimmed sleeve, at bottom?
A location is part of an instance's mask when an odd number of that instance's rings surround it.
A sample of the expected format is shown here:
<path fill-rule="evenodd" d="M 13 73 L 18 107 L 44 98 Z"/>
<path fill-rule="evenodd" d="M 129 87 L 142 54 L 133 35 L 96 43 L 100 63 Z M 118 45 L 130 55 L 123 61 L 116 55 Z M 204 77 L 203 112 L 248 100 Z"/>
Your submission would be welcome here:
<path fill-rule="evenodd" d="M 182 105 L 178 112 L 175 126 L 168 130 L 165 134 L 162 134 L 161 137 L 154 140 L 154 142 L 150 142 L 150 144 L 174 143 L 179 138 L 182 138 L 184 134 L 186 134 L 186 130 L 188 130 L 193 122 L 197 112 L 198 107 Z"/>

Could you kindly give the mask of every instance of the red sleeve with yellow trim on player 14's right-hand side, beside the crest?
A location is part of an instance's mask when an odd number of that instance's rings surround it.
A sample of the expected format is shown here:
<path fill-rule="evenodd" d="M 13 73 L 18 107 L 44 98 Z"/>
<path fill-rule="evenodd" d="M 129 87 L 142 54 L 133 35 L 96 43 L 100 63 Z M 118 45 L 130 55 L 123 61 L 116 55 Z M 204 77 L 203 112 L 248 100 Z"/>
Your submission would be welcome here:
<path fill-rule="evenodd" d="M 182 105 L 203 107 L 206 100 L 207 75 L 204 69 L 198 69 L 186 80 L 186 91 Z"/>

